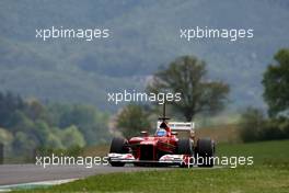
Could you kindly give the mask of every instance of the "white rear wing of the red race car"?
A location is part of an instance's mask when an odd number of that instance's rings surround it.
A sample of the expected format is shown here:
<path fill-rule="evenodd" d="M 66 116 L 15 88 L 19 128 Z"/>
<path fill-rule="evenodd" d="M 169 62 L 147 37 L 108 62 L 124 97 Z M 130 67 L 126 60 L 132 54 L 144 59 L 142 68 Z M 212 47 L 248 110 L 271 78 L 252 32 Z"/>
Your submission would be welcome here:
<path fill-rule="evenodd" d="M 161 123 L 162 122 L 157 123 L 157 129 L 160 128 Z M 171 128 L 172 132 L 184 133 L 186 137 L 195 136 L 194 122 L 169 122 L 167 126 Z"/>

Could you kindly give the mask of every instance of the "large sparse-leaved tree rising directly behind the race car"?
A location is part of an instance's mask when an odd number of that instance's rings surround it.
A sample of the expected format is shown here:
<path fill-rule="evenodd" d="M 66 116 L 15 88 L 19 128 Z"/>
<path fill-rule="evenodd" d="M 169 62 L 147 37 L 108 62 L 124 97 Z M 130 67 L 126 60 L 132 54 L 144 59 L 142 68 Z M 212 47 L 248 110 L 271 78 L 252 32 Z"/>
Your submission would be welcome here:
<path fill-rule="evenodd" d="M 229 86 L 222 81 L 209 80 L 206 75 L 205 61 L 195 56 L 182 56 L 171 63 L 169 68 L 153 75 L 148 91 L 181 92 L 182 100 L 172 105 L 190 122 L 198 113 L 222 110 L 228 100 Z"/>

